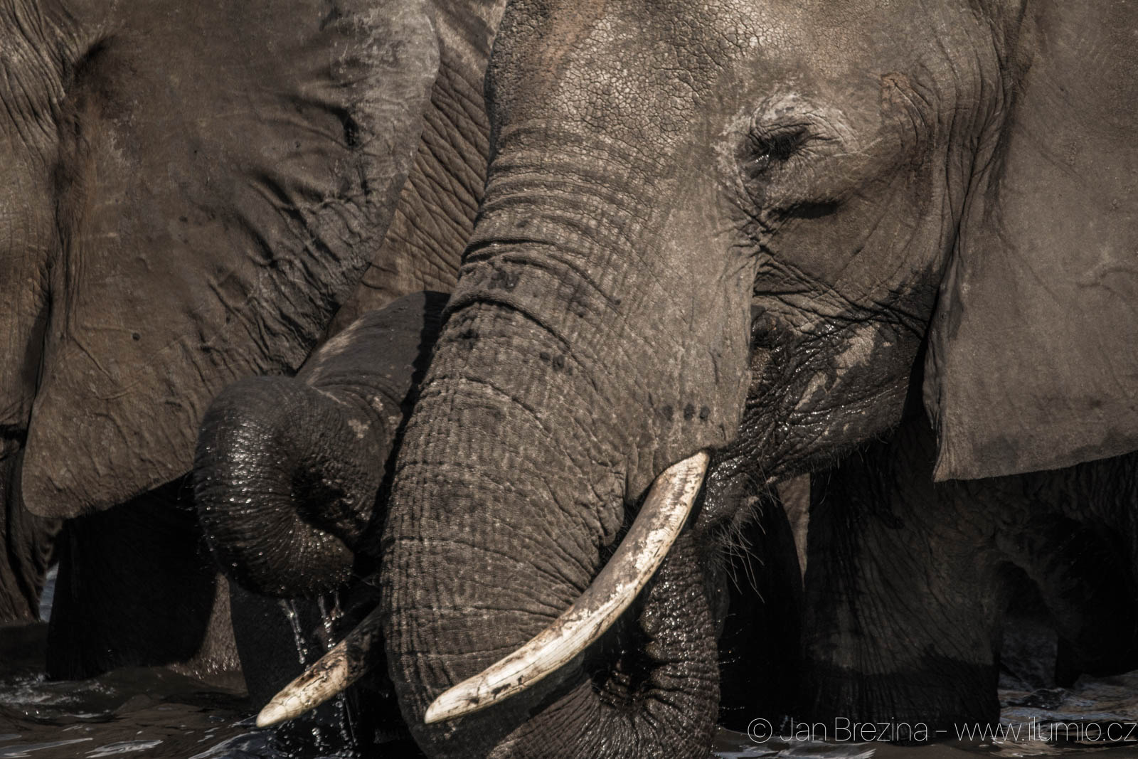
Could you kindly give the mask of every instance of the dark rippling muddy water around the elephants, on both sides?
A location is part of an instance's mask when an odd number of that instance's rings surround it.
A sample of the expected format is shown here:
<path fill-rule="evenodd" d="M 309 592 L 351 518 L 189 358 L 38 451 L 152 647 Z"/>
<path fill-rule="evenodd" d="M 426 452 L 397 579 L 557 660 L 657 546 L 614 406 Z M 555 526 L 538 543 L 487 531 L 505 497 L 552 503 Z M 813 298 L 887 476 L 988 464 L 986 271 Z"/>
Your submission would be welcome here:
<path fill-rule="evenodd" d="M 50 604 L 50 589 L 49 584 L 46 604 Z M 0 759 L 369 756 L 343 748 L 352 734 L 351 725 L 343 720 L 305 726 L 300 735 L 258 731 L 253 726 L 251 704 L 237 687 L 207 686 L 162 669 L 126 669 L 90 680 L 48 683 L 39 674 L 44 634 L 46 625 L 0 628 Z M 1005 704 L 1003 735 L 905 748 L 879 742 L 824 742 L 808 736 L 770 737 L 770 731 L 756 726 L 753 740 L 743 733 L 720 731 L 715 753 L 724 759 L 1138 759 L 1138 728 L 1130 734 L 1130 724 L 1138 723 L 1138 671 L 1082 679 L 1071 690 L 1028 691 L 1015 683 L 1005 685 L 1000 694 Z M 800 732 L 780 727 L 773 732 Z"/>

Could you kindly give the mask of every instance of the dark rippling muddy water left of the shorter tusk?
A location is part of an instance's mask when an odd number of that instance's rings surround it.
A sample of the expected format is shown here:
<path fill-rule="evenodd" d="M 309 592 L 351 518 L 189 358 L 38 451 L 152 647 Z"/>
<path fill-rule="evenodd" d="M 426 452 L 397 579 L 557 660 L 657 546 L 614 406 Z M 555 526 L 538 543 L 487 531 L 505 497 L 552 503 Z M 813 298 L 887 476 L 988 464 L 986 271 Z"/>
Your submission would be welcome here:
<path fill-rule="evenodd" d="M 40 614 L 51 608 L 55 577 Z M 355 759 L 352 726 L 259 731 L 239 678 L 207 685 L 160 668 L 121 669 L 80 682 L 42 675 L 47 625 L 0 627 L 0 759 Z"/>

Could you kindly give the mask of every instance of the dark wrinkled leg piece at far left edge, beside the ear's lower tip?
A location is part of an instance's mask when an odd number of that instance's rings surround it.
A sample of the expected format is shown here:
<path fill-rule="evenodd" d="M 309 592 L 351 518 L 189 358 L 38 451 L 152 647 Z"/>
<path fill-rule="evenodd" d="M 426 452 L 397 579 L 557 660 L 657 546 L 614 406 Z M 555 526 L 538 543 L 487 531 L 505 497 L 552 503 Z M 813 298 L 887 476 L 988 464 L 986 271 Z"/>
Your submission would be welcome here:
<path fill-rule="evenodd" d="M 18 456 L 0 460 L 0 625 L 40 618 L 40 594 L 61 525 L 38 517 L 13 496 Z"/>

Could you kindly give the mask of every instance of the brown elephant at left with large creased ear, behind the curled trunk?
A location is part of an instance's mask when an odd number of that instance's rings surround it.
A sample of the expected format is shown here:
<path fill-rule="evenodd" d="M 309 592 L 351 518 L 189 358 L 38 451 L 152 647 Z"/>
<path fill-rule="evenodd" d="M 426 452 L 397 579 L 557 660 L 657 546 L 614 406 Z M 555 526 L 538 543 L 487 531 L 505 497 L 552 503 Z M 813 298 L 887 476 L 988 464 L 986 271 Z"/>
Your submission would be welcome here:
<path fill-rule="evenodd" d="M 0 2 L 0 621 L 56 558 L 49 676 L 229 677 L 236 618 L 265 634 L 198 521 L 201 416 L 453 284 L 500 6 Z"/>

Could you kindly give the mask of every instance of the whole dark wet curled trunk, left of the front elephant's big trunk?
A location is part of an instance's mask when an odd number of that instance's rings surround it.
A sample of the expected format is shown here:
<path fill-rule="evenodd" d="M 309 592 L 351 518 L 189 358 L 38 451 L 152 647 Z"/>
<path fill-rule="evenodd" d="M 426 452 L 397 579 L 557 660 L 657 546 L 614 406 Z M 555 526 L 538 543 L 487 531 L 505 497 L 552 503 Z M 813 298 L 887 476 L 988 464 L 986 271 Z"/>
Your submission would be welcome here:
<path fill-rule="evenodd" d="M 195 501 L 232 579 L 311 597 L 377 553 L 377 493 L 445 303 L 404 296 L 325 343 L 295 379 L 246 379 L 217 396 L 198 438 Z"/>

